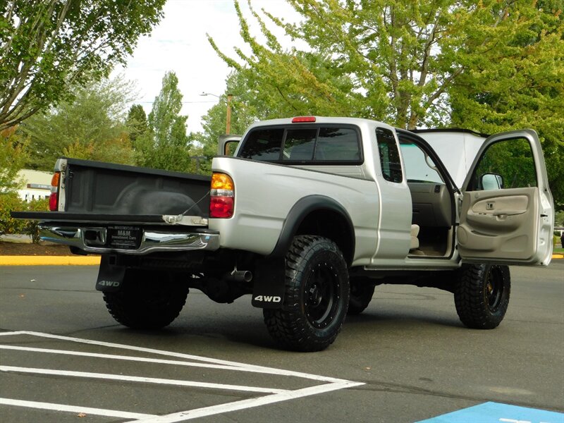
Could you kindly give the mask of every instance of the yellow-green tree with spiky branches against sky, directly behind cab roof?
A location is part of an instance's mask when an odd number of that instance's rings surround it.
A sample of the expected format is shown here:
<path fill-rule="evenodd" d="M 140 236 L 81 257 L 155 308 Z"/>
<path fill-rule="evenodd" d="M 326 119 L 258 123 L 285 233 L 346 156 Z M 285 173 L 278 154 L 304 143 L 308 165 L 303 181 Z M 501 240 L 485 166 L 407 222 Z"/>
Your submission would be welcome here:
<path fill-rule="evenodd" d="M 264 45 L 257 42 L 235 1 L 241 35 L 252 54 L 235 49 L 235 60 L 218 50 L 223 59 L 234 68 L 249 68 L 264 82 L 260 87 L 275 86 L 278 102 L 290 103 L 296 111 L 307 104 L 312 114 L 378 118 L 402 128 L 448 120 L 447 90 L 465 70 L 457 55 L 470 25 L 461 25 L 458 15 L 475 16 L 473 2 L 288 2 L 302 15 L 300 23 L 266 16 L 307 43 L 307 51 L 285 51 L 253 11 L 266 37 Z"/>

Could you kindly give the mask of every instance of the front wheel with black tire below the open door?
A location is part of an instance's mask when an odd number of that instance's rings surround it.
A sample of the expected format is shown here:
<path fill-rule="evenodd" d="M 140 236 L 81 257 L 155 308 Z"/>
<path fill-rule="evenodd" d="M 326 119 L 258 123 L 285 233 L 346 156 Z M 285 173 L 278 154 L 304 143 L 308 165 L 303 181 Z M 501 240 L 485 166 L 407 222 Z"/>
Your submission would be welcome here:
<path fill-rule="evenodd" d="M 454 293 L 460 321 L 471 329 L 494 329 L 505 317 L 511 293 L 508 266 L 462 266 Z"/>

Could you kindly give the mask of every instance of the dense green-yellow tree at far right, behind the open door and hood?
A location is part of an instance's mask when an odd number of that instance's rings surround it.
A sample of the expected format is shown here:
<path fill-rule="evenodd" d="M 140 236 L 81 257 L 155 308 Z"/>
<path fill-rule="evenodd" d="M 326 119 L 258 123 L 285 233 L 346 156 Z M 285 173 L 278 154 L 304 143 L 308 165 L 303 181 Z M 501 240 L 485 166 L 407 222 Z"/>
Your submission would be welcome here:
<path fill-rule="evenodd" d="M 498 8 L 501 20 L 481 11 L 496 42 L 484 49 L 481 37 L 474 37 L 465 46 L 480 54 L 465 65 L 472 72 L 462 73 L 449 90 L 452 123 L 483 133 L 536 129 L 551 191 L 564 210 L 564 3 L 517 1 Z"/>

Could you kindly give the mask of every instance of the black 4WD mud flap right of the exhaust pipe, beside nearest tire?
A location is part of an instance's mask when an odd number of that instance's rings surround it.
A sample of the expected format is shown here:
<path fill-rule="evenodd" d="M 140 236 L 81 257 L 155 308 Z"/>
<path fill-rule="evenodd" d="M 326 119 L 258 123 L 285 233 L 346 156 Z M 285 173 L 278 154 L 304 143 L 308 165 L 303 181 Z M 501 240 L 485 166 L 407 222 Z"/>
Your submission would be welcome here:
<path fill-rule="evenodd" d="M 278 309 L 284 303 L 286 292 L 284 257 L 264 259 L 255 268 L 252 278 L 253 307 Z"/>

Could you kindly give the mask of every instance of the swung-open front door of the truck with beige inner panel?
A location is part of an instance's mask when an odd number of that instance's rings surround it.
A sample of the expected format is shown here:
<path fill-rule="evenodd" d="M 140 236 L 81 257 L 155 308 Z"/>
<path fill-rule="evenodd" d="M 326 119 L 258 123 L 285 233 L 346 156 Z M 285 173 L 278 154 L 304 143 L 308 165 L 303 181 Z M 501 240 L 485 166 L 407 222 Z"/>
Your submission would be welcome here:
<path fill-rule="evenodd" d="M 464 262 L 550 263 L 554 206 L 534 130 L 488 137 L 462 190 L 457 239 Z"/>

